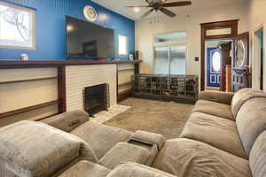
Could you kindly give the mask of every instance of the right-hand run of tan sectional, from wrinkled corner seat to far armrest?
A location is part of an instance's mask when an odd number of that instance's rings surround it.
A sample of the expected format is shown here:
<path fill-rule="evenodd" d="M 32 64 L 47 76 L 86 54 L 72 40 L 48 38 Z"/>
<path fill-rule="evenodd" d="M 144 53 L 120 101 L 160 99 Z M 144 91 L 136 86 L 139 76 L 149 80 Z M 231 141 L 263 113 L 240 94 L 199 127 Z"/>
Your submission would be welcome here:
<path fill-rule="evenodd" d="M 179 177 L 265 177 L 266 94 L 202 92 L 180 138 L 153 167 Z"/>

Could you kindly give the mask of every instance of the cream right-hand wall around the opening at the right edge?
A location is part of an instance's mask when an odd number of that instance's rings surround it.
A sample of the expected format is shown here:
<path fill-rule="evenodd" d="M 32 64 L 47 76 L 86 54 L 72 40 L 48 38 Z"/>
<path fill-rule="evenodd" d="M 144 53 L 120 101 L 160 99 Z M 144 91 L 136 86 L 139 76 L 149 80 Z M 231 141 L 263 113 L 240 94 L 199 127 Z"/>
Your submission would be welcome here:
<path fill-rule="evenodd" d="M 252 44 L 254 42 L 254 31 L 264 25 L 264 86 L 263 90 L 266 91 L 266 0 L 251 0 L 248 5 L 248 22 L 250 30 L 250 47 L 253 49 Z M 253 51 L 253 50 L 251 50 Z M 252 61 L 252 84 L 253 88 L 260 88 L 259 74 L 260 66 L 257 60 L 254 60 L 253 53 L 251 52 L 251 61 Z"/>

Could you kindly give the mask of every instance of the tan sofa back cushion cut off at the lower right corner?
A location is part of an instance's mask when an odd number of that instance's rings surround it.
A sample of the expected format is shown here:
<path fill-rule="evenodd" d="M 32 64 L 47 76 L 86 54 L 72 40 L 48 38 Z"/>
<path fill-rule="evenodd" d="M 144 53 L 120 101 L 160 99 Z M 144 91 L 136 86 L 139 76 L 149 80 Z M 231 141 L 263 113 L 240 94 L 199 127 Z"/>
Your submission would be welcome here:
<path fill-rule="evenodd" d="M 266 176 L 266 131 L 254 142 L 249 155 L 249 166 L 253 177 Z"/>

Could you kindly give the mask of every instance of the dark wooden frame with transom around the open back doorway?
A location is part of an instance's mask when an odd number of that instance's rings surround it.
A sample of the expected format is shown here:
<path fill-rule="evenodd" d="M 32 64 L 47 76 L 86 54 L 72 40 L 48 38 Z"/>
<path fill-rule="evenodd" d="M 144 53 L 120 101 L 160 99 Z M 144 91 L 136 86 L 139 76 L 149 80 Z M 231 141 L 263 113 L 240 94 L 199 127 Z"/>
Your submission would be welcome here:
<path fill-rule="evenodd" d="M 231 35 L 211 35 L 207 36 L 206 32 L 208 29 L 221 29 L 231 28 Z M 201 23 L 201 54 L 200 54 L 200 90 L 205 89 L 205 41 L 211 39 L 233 39 L 238 35 L 239 19 L 215 21 L 210 23 Z"/>

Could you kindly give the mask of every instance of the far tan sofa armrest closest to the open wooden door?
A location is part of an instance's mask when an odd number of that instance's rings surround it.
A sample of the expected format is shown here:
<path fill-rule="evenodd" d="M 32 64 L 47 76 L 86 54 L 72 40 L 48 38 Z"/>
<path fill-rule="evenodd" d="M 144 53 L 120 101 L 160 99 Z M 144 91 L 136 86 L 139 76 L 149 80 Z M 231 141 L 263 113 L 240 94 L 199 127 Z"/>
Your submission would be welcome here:
<path fill-rule="evenodd" d="M 220 104 L 231 105 L 231 99 L 233 96 L 234 93 L 232 92 L 202 91 L 199 94 L 199 100 L 207 100 Z"/>

